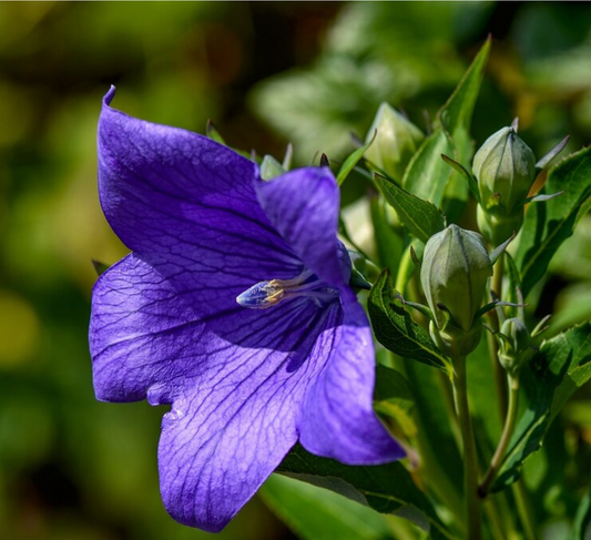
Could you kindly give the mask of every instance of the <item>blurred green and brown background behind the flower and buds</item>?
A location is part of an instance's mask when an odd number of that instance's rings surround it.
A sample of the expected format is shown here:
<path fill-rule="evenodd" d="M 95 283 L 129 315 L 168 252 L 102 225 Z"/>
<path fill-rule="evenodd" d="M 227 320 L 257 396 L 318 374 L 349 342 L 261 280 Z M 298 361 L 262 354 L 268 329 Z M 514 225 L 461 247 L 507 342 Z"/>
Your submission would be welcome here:
<path fill-rule="evenodd" d="M 0 538 L 210 536 L 160 501 L 163 409 L 93 396 L 91 259 L 126 253 L 96 195 L 109 85 L 132 115 L 198 132 L 212 119 L 233 146 L 338 162 L 381 101 L 424 126 L 488 33 L 478 144 L 514 115 L 538 155 L 564 134 L 568 151 L 589 144 L 588 3 L 0 3 Z M 364 191 L 351 177 L 344 202 Z M 590 315 L 590 276 L 585 220 L 540 289 L 554 330 Z M 589 399 L 561 420 L 577 444 L 591 444 Z M 255 498 L 220 538 L 294 534 Z"/>

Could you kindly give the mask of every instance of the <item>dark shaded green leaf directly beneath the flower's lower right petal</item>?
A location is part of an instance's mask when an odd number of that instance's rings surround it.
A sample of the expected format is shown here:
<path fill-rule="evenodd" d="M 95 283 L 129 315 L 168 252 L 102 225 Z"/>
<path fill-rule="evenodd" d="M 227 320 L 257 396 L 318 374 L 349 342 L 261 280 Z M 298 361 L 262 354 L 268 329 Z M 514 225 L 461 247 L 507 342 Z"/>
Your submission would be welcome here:
<path fill-rule="evenodd" d="M 351 467 L 308 454 L 297 445 L 277 472 L 336 491 L 380 513 L 412 521 L 434 539 L 451 539 L 422 491 L 400 462 Z"/>

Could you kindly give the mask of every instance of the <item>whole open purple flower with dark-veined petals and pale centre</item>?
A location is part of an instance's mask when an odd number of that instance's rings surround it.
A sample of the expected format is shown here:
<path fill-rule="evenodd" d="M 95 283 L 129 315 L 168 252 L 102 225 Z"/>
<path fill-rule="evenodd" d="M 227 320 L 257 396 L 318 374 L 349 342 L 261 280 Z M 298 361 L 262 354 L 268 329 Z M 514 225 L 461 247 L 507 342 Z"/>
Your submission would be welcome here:
<path fill-rule="evenodd" d="M 371 333 L 330 171 L 263 182 L 223 145 L 111 109 L 113 95 L 99 192 L 133 253 L 94 287 L 94 389 L 172 406 L 159 448 L 169 512 L 220 531 L 297 440 L 350 465 L 403 457 L 371 409 Z"/>

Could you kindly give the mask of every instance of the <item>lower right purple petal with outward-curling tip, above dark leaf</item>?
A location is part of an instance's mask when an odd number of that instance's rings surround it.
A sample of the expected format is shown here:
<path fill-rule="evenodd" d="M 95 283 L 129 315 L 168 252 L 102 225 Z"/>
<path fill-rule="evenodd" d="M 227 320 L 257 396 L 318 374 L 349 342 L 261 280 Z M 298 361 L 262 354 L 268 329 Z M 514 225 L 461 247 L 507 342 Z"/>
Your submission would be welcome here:
<path fill-rule="evenodd" d="M 338 340 L 310 387 L 300 419 L 306 450 L 347 465 L 378 465 L 405 456 L 373 410 L 371 332 L 361 306 L 345 303 Z"/>

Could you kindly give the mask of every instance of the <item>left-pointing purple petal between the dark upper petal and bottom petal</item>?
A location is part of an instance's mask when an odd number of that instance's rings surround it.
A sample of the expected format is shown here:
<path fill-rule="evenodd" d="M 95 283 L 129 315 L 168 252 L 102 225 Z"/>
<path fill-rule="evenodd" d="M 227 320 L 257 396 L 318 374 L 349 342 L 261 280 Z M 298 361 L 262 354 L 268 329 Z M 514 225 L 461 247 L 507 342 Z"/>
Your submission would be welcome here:
<path fill-rule="evenodd" d="M 225 308 L 227 302 L 217 302 L 216 294 L 230 294 L 232 307 Z M 338 302 L 334 306 L 342 313 Z M 246 309 L 236 304 L 232 288 L 187 288 L 132 253 L 109 268 L 93 292 L 90 349 L 96 397 L 171 403 L 185 380 L 208 378 L 212 371 L 224 387 L 232 380 L 242 384 L 261 355 L 289 356 L 295 370 L 312 345 L 294 351 L 294 343 L 319 334 L 334 310 L 306 298 Z"/>

